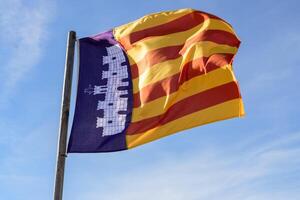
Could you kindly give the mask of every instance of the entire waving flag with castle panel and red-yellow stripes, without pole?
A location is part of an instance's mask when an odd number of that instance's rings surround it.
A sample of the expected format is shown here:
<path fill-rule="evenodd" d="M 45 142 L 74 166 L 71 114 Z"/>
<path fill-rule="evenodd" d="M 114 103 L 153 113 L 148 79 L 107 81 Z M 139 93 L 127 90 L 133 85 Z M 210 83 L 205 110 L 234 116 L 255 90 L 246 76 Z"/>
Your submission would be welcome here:
<path fill-rule="evenodd" d="M 232 68 L 239 45 L 229 23 L 193 9 L 79 39 L 68 152 L 126 150 L 243 116 Z"/>

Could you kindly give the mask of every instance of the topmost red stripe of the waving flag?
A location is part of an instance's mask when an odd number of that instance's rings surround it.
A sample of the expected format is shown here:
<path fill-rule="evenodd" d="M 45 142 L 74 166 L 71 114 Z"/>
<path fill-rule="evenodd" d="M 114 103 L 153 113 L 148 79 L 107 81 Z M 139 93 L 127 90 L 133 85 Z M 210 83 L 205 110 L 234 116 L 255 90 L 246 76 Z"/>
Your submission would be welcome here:
<path fill-rule="evenodd" d="M 187 15 L 184 15 L 182 17 L 179 17 L 178 19 L 175 19 L 173 21 L 167 22 L 165 24 L 161 24 L 141 31 L 133 32 L 130 35 L 124 36 L 119 41 L 124 46 L 124 48 L 128 50 L 132 47 L 133 43 L 142 40 L 144 38 L 152 37 L 152 36 L 162 36 L 162 35 L 168 35 L 172 33 L 186 31 L 201 24 L 202 22 L 204 22 L 206 19 L 209 18 L 221 20 L 220 18 L 214 15 L 195 11 Z"/>

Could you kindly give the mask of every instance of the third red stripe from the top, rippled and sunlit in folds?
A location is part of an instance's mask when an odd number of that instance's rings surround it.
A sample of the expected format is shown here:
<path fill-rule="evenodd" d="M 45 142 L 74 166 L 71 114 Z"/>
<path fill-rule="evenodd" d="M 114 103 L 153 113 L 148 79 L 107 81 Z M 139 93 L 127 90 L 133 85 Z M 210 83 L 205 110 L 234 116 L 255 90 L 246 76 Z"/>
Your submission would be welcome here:
<path fill-rule="evenodd" d="M 209 58 L 203 57 L 187 63 L 180 73 L 150 84 L 135 93 L 133 95 L 133 107 L 140 107 L 141 103 L 144 104 L 176 92 L 184 82 L 230 64 L 232 57 L 233 54 L 215 54 Z"/>

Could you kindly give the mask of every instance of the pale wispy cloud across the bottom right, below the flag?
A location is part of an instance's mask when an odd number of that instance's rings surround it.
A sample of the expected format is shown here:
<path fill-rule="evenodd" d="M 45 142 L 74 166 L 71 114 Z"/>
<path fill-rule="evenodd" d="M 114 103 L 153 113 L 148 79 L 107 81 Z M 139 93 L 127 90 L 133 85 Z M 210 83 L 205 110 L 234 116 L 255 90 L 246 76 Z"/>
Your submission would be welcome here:
<path fill-rule="evenodd" d="M 104 186 L 97 182 L 78 199 L 296 199 L 299 143 L 300 134 L 295 133 L 252 147 L 237 145 L 230 153 L 217 147 L 190 152 L 147 168 L 137 167 Z"/>

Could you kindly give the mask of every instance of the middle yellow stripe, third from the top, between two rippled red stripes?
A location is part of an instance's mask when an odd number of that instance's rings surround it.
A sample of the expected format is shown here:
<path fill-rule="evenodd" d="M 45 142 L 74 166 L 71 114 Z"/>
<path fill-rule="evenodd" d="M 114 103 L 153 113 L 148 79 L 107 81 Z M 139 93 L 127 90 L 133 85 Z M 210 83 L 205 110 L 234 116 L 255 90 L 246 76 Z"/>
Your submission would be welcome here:
<path fill-rule="evenodd" d="M 192 45 L 183 56 L 173 59 L 167 60 L 162 63 L 158 63 L 143 74 L 141 74 L 138 78 L 132 81 L 133 83 L 133 93 L 137 93 L 139 89 L 155 83 L 159 80 L 172 76 L 180 72 L 181 68 L 188 62 L 200 58 L 200 57 L 208 57 L 217 53 L 231 53 L 235 54 L 237 52 L 236 47 L 228 46 L 228 45 L 220 45 L 214 42 L 198 42 Z"/>

